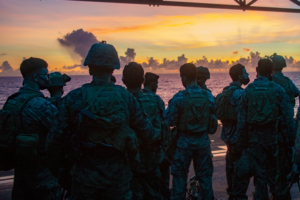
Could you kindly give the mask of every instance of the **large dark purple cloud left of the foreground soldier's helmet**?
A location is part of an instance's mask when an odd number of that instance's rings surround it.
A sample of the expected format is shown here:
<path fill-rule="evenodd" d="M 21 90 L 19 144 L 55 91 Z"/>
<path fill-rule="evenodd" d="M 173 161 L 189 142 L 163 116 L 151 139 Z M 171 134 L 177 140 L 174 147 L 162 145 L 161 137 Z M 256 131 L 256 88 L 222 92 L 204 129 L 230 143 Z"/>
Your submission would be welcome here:
<path fill-rule="evenodd" d="M 81 67 L 81 69 L 87 69 L 88 67 L 83 66 L 84 59 L 88 55 L 88 50 L 95 43 L 99 43 L 97 37 L 91 32 L 84 31 L 82 28 L 73 30 L 71 33 L 67 33 L 62 38 L 57 38 L 57 41 L 61 46 L 66 48 L 70 55 L 75 55 L 79 58 L 80 64 L 74 64 L 73 66 L 64 66 L 64 69 L 74 69 Z"/>

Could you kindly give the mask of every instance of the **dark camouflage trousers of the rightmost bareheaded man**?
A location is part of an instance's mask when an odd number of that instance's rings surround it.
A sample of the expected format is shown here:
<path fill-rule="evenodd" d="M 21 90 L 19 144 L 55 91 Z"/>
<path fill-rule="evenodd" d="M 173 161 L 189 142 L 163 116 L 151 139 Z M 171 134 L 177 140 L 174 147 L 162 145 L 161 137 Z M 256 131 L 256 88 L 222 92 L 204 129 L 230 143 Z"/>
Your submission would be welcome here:
<path fill-rule="evenodd" d="M 292 166 L 284 143 L 278 143 L 278 166 L 277 158 L 274 156 L 277 148 L 276 145 L 263 142 L 250 143 L 251 145 L 251 166 L 254 169 L 254 200 L 268 200 L 268 188 L 277 200 L 291 199 L 290 193 L 285 196 L 284 190 L 287 186 L 286 176 L 289 174 Z M 277 173 L 279 170 L 279 173 Z M 275 177 L 279 174 L 278 183 L 275 185 Z"/>

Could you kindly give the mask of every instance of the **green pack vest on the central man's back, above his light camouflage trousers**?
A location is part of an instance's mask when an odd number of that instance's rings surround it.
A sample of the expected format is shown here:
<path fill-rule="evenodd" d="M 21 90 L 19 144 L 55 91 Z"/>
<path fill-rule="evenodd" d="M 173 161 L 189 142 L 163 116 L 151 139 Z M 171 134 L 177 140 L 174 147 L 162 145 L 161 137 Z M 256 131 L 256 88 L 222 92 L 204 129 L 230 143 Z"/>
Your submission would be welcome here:
<path fill-rule="evenodd" d="M 207 91 L 190 93 L 187 90 L 183 94 L 183 109 L 180 112 L 178 129 L 191 133 L 202 133 L 208 130 L 209 101 Z"/>

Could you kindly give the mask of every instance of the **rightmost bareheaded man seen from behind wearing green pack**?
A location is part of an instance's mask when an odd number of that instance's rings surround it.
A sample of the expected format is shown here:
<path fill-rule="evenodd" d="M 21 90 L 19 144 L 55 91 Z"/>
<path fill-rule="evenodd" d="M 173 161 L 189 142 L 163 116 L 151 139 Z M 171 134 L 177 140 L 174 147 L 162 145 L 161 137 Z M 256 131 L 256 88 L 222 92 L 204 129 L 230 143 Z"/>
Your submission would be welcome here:
<path fill-rule="evenodd" d="M 284 198 L 291 169 L 286 146 L 295 143 L 295 121 L 286 91 L 268 79 L 272 69 L 270 58 L 259 60 L 257 78 L 244 89 L 238 106 L 237 147 L 243 154 L 251 148 L 255 200 L 268 199 L 268 178 L 276 176 L 276 199 L 291 199 L 289 193 Z"/>

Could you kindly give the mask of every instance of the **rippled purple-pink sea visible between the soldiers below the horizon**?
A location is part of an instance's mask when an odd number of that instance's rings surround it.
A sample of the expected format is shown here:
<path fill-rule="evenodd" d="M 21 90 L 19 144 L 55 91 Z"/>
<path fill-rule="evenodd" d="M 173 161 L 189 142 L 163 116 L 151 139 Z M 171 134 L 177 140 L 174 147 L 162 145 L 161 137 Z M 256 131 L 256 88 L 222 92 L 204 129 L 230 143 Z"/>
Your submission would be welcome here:
<path fill-rule="evenodd" d="M 256 78 L 256 73 L 249 73 L 250 82 Z M 300 72 L 283 72 L 285 76 L 288 76 L 294 84 L 300 88 Z M 158 89 L 156 94 L 160 95 L 164 100 L 166 107 L 168 101 L 176 94 L 179 90 L 183 90 L 182 82 L 179 74 L 158 74 L 160 78 L 158 79 Z M 116 84 L 125 87 L 121 81 L 122 75 L 114 75 L 117 79 Z M 67 86 L 64 86 L 64 95 L 69 91 L 81 87 L 81 85 L 91 82 L 92 77 L 89 75 L 76 75 L 70 76 L 72 79 L 67 82 Z M 228 73 L 211 73 L 210 79 L 206 81 L 207 87 L 212 91 L 214 96 L 217 96 L 222 92 L 223 88 L 229 85 L 231 78 Z M 20 87 L 22 87 L 22 76 L 11 76 L 11 77 L 0 77 L 0 108 L 4 105 L 7 97 L 11 94 L 17 92 Z M 245 88 L 246 86 L 242 86 Z M 45 96 L 50 96 L 47 90 L 42 91 Z M 299 106 L 298 98 L 296 99 L 296 106 L 294 108 L 295 113 Z"/>

